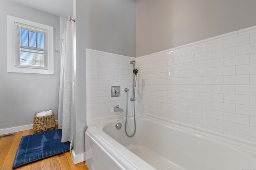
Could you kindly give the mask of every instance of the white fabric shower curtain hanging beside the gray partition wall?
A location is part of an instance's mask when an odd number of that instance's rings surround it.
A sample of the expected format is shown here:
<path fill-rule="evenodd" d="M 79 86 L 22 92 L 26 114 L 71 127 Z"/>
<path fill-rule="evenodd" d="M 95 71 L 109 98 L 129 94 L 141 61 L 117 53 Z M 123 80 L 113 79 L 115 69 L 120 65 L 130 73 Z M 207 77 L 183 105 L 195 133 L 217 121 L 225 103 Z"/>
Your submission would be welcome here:
<path fill-rule="evenodd" d="M 67 28 L 62 36 L 60 65 L 60 89 L 58 106 L 58 124 L 62 129 L 61 142 L 70 141 L 73 146 L 74 135 L 74 90 L 73 90 L 73 22 L 67 21 Z"/>

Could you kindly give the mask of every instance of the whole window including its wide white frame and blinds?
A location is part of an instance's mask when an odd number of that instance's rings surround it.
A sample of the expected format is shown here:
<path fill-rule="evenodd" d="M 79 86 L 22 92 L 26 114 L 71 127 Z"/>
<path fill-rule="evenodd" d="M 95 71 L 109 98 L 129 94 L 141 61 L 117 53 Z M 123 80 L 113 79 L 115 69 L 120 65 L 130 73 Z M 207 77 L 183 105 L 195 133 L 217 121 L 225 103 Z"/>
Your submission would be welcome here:
<path fill-rule="evenodd" d="M 7 16 L 8 72 L 53 74 L 53 27 Z"/>

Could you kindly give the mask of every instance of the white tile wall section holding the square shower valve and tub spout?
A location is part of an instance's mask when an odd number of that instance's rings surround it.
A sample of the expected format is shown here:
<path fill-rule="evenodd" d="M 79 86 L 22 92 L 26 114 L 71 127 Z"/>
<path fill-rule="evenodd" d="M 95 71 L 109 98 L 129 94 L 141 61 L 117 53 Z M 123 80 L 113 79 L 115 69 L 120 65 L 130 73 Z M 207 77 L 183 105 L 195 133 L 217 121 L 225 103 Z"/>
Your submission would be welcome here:
<path fill-rule="evenodd" d="M 86 105 L 87 123 L 95 123 L 107 119 L 123 117 L 126 114 L 126 92 L 132 96 L 132 64 L 133 57 L 126 57 L 86 49 Z M 121 97 L 111 97 L 111 86 L 121 87 Z M 124 112 L 114 112 L 119 105 Z M 161 105 L 162 106 L 162 105 Z M 132 104 L 128 102 L 128 113 Z"/>

